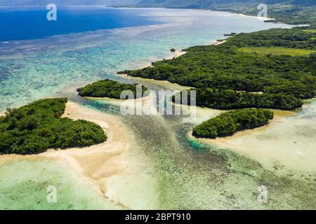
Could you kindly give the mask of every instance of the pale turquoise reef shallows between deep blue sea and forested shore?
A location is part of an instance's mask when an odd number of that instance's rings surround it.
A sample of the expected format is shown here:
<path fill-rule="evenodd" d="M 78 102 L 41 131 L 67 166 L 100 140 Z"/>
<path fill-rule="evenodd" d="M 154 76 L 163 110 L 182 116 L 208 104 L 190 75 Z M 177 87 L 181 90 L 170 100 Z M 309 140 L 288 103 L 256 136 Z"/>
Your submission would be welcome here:
<path fill-rule="evenodd" d="M 126 10 L 129 14 L 140 13 Z M 0 111 L 57 94 L 69 85 L 79 87 L 82 84 L 78 83 L 117 79 L 117 71 L 169 56 L 170 48 L 208 44 L 228 32 L 287 27 L 230 13 L 197 10 L 147 9 L 141 15 L 164 25 L 1 43 Z"/>

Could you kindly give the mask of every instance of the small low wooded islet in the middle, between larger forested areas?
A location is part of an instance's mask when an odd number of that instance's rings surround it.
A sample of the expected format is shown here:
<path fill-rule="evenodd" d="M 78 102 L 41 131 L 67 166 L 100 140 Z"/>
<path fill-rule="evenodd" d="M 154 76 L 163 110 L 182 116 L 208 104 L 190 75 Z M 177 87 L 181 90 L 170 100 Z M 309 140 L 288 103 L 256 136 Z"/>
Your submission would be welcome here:
<path fill-rule="evenodd" d="M 88 84 L 85 87 L 79 88 L 77 91 L 81 97 L 110 97 L 113 99 L 121 99 L 121 92 L 124 90 L 130 90 L 136 98 L 139 96 L 136 94 L 137 84 L 122 84 L 113 80 L 100 80 L 96 83 Z M 147 90 L 142 86 L 142 96 Z"/>

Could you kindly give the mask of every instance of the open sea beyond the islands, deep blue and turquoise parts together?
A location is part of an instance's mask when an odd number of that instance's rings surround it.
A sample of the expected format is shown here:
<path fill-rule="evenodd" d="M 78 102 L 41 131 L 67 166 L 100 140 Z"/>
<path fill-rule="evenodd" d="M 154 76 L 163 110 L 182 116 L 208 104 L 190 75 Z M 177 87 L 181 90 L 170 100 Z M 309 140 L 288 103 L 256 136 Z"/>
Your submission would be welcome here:
<path fill-rule="evenodd" d="M 230 32 L 290 27 L 206 10 L 73 6 L 58 8 L 51 22 L 47 11 L 0 10 L 0 29 L 6 30 L 0 42 L 0 111 L 76 83 L 118 78 L 117 71 L 168 57 L 171 48 L 209 44 Z"/>

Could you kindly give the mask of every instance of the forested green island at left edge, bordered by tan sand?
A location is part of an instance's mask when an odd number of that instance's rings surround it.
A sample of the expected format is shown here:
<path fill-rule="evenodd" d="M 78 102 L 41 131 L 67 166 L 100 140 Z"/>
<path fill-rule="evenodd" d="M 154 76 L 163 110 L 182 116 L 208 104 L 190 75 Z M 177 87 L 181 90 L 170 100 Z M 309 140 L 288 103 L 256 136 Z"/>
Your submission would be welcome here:
<path fill-rule="evenodd" d="M 66 98 L 41 99 L 0 118 L 0 154 L 38 154 L 48 148 L 92 146 L 107 140 L 103 129 L 86 120 L 61 118 Z"/>

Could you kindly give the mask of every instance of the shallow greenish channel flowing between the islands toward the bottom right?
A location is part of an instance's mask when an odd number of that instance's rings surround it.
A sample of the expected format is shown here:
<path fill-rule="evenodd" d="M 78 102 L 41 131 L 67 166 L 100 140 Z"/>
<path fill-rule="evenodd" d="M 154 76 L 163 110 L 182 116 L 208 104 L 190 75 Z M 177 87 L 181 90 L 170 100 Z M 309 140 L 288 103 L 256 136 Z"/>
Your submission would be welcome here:
<path fill-rule="evenodd" d="M 106 102 L 81 104 L 112 114 L 119 110 Z M 120 118 L 154 169 L 156 209 L 315 209 L 315 174 L 299 179 L 291 172 L 275 174 L 254 160 L 187 138 L 192 125 L 179 116 Z M 258 186 L 268 188 L 267 204 L 258 202 Z"/>

